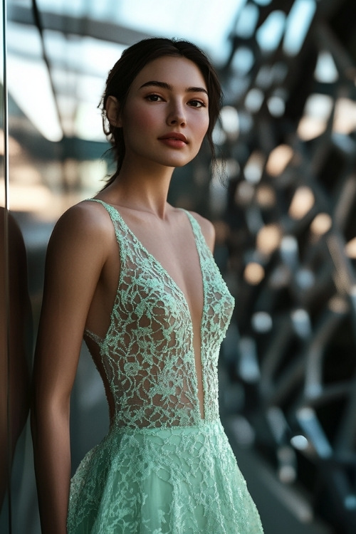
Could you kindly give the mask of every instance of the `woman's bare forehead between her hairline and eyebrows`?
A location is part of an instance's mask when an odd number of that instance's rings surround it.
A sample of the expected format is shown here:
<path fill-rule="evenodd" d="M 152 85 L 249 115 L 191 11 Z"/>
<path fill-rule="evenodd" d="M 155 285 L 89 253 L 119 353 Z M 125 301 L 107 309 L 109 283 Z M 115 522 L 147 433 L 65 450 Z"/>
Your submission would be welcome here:
<path fill-rule="evenodd" d="M 148 81 L 166 82 L 173 88 L 201 87 L 207 90 L 204 76 L 197 65 L 187 58 L 164 56 L 147 63 L 132 83 L 132 88 L 140 88 Z"/>

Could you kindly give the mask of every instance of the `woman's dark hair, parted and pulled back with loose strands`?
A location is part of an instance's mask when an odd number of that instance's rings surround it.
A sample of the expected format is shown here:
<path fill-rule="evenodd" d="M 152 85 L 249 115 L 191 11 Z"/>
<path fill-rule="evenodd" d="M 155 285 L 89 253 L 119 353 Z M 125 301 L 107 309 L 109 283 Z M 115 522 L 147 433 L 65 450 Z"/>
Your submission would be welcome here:
<path fill-rule="evenodd" d="M 108 187 L 108 185 L 115 180 L 120 172 L 125 157 L 125 142 L 122 128 L 112 126 L 108 121 L 105 111 L 106 101 L 109 96 L 114 96 L 117 98 L 122 108 L 125 105 L 125 100 L 131 84 L 133 80 L 135 80 L 137 74 L 140 73 L 140 70 L 142 70 L 147 63 L 150 63 L 150 61 L 162 58 L 163 56 L 189 59 L 197 65 L 204 77 L 209 96 L 209 127 L 206 132 L 206 138 L 209 142 L 212 160 L 215 162 L 212 132 L 216 120 L 219 117 L 222 92 L 214 67 L 211 65 L 206 54 L 193 43 L 189 43 L 189 41 L 158 37 L 148 38 L 126 48 L 122 53 L 121 58 L 110 70 L 108 79 L 106 80 L 105 91 L 99 107 L 103 117 L 103 130 L 112 145 L 112 151 L 114 152 L 115 160 L 117 162 L 117 169 L 115 173 L 112 174 L 112 177 L 108 179 L 105 187 Z"/>

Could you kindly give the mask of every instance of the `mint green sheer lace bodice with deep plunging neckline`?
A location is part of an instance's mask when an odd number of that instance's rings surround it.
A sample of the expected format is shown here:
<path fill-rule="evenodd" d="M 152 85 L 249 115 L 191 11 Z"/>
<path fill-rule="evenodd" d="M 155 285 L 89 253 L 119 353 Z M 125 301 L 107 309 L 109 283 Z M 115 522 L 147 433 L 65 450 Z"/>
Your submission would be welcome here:
<path fill-rule="evenodd" d="M 111 424 L 152 428 L 194 426 L 219 418 L 217 360 L 234 299 L 219 273 L 196 219 L 186 211 L 197 244 L 204 290 L 201 318 L 201 419 L 193 326 L 177 283 L 132 234 L 117 209 L 103 201 L 120 249 L 120 279 L 104 339 L 100 369 L 114 407 Z"/>

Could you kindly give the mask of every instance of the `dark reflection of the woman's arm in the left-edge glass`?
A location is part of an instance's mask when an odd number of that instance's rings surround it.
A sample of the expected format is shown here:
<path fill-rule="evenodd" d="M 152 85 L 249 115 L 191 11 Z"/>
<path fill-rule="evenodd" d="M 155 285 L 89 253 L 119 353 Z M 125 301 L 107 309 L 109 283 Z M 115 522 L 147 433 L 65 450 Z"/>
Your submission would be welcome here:
<path fill-rule="evenodd" d="M 23 237 L 3 206 L 0 250 L 0 502 L 6 503 L 16 443 L 28 415 L 31 307 Z"/>

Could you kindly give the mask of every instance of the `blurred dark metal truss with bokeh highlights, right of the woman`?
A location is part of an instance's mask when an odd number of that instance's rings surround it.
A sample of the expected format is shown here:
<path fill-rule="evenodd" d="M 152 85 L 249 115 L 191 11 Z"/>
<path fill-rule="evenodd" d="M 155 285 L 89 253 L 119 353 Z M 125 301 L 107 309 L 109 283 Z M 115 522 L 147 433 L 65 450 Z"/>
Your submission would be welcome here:
<path fill-rule="evenodd" d="M 246 27 L 239 11 L 221 69 L 226 112 L 239 116 L 237 132 L 223 114 L 229 188 L 215 210 L 229 229 L 218 253 L 228 251 L 237 302 L 225 404 L 251 424 L 281 483 L 308 496 L 335 533 L 354 534 L 356 47 L 337 28 L 343 20 L 355 31 L 356 6 L 305 0 L 309 18 L 293 49 L 296 4 L 248 1 L 256 23 Z M 263 48 L 273 16 L 280 38 Z M 214 187 L 211 197 L 214 206 Z"/>

